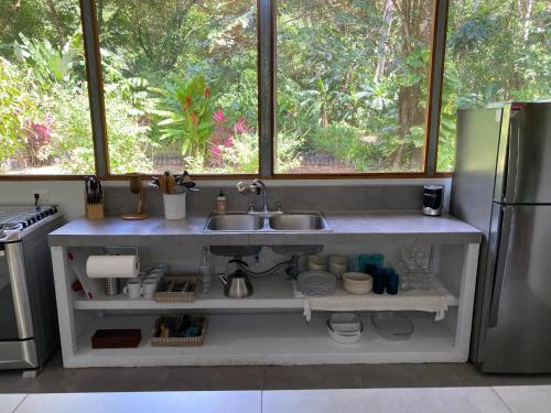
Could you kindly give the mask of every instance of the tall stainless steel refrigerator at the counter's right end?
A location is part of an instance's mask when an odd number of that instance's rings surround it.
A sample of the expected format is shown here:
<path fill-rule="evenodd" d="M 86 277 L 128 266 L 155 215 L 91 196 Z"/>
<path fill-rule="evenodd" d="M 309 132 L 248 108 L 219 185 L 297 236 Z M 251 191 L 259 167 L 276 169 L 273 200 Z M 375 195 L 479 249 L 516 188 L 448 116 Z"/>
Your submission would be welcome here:
<path fill-rule="evenodd" d="M 551 372 L 551 102 L 460 110 L 451 213 L 485 236 L 471 360 Z"/>

